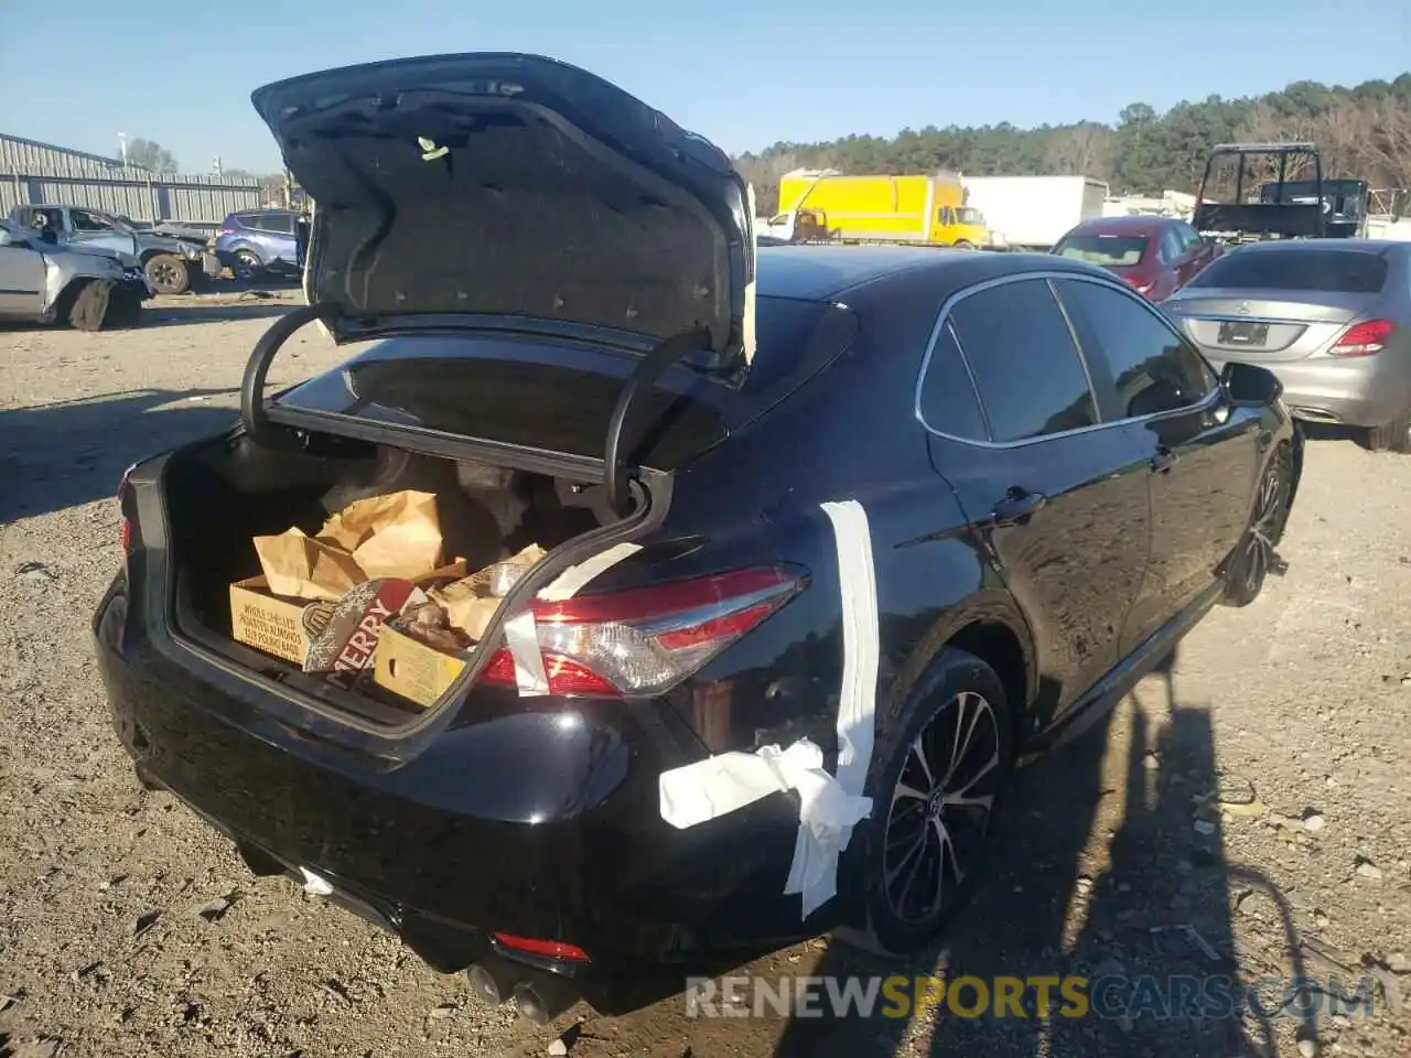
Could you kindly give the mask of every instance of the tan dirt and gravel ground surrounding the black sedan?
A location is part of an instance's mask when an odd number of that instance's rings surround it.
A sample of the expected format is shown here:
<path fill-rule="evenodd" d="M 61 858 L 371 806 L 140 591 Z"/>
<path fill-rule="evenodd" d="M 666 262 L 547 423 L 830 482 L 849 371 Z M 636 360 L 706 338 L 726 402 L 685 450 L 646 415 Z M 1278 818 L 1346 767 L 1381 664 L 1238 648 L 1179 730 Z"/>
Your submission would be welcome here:
<path fill-rule="evenodd" d="M 289 298 L 0 332 L 0 1055 L 529 1055 L 562 1052 L 564 1030 L 580 1058 L 1411 1054 L 1411 458 L 1346 439 L 1311 444 L 1287 577 L 1020 773 L 945 951 L 889 966 L 816 942 L 749 971 L 1307 975 L 1373 982 L 1370 1016 L 790 1021 L 691 1019 L 673 997 L 536 1030 L 254 880 L 134 783 L 87 621 L 119 563 L 123 468 L 231 420 L 246 354 Z M 305 332 L 272 381 L 337 358 Z"/>

